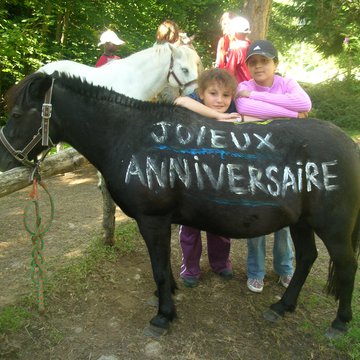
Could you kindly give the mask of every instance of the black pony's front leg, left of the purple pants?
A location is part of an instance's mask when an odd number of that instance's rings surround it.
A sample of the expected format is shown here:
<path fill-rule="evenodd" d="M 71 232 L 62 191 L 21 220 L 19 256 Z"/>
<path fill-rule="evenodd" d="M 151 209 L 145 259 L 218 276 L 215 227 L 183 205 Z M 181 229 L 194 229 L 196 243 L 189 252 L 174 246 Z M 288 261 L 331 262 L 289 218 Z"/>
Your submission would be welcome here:
<path fill-rule="evenodd" d="M 171 223 L 166 216 L 142 215 L 136 220 L 150 254 L 159 297 L 158 313 L 150 321 L 150 324 L 156 330 L 155 334 L 150 335 L 161 335 L 176 317 L 175 305 L 172 299 L 176 283 L 170 262 Z"/>

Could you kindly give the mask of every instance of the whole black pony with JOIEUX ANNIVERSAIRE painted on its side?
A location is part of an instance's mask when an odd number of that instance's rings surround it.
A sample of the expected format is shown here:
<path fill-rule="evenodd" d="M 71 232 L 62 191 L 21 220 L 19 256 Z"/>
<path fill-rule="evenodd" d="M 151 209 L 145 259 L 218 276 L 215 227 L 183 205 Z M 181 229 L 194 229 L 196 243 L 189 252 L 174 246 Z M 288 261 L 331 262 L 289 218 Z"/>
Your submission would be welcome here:
<path fill-rule="evenodd" d="M 59 77 L 52 86 L 52 77 L 36 73 L 10 95 L 10 118 L 0 136 L 2 170 L 28 164 L 44 150 L 49 106 L 43 120 L 41 108 L 50 88 L 50 144 L 64 141 L 82 153 L 137 221 L 159 296 L 150 321 L 156 330 L 176 316 L 170 264 L 175 223 L 231 238 L 290 226 L 296 269 L 281 300 L 266 312 L 272 321 L 295 310 L 317 257 L 317 234 L 331 258 L 328 292 L 339 300 L 329 334 L 346 331 L 360 242 L 360 153 L 340 129 L 314 119 L 217 122 L 79 79 Z"/>

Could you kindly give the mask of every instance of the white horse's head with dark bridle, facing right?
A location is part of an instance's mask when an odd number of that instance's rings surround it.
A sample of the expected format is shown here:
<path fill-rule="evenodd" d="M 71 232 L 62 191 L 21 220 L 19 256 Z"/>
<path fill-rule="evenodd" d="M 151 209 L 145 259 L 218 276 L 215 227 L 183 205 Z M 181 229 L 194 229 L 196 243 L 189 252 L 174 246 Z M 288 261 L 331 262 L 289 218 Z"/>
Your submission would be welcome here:
<path fill-rule="evenodd" d="M 169 44 L 173 63 L 170 66 L 168 81 L 171 86 L 180 87 L 184 95 L 197 88 L 197 78 L 202 71 L 202 63 L 197 52 L 189 46 Z"/>

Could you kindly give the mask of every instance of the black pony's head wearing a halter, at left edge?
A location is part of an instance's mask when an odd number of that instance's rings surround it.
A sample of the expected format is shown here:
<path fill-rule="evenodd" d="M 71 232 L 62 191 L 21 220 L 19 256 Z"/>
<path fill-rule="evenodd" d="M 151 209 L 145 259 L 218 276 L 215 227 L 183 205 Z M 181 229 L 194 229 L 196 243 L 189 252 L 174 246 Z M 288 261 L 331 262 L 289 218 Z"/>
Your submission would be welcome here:
<path fill-rule="evenodd" d="M 52 86 L 51 76 L 34 73 L 7 93 L 9 118 L 0 132 L 0 170 L 25 165 L 47 148 L 42 145 L 42 106 Z M 45 117 L 48 109 L 44 109 Z M 46 129 L 45 129 L 46 130 Z M 50 141 L 51 142 L 51 141 Z"/>

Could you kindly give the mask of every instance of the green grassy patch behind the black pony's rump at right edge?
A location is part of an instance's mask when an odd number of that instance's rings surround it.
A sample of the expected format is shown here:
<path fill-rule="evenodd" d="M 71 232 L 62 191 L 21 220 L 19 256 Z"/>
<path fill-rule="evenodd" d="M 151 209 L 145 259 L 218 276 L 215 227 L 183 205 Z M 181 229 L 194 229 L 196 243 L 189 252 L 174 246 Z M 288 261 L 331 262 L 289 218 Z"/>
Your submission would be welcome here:
<path fill-rule="evenodd" d="M 328 120 L 347 131 L 360 133 L 359 80 L 349 78 L 303 86 L 313 103 L 311 117 Z"/>

